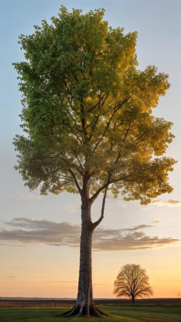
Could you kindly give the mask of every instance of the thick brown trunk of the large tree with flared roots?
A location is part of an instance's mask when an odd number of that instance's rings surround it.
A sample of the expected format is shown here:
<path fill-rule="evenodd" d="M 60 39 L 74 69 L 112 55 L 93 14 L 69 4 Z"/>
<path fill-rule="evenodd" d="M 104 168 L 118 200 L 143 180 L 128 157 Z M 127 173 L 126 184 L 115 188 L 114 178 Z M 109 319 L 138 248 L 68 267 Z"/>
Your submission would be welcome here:
<path fill-rule="evenodd" d="M 76 304 L 72 310 L 65 312 L 61 316 L 80 317 L 85 314 L 87 318 L 90 315 L 101 317 L 108 316 L 107 313 L 96 308 L 93 300 L 93 285 L 92 285 L 92 235 L 93 223 L 91 221 L 91 206 L 88 203 L 82 202 L 82 229 L 80 238 L 80 267 L 79 267 L 79 284 Z"/>

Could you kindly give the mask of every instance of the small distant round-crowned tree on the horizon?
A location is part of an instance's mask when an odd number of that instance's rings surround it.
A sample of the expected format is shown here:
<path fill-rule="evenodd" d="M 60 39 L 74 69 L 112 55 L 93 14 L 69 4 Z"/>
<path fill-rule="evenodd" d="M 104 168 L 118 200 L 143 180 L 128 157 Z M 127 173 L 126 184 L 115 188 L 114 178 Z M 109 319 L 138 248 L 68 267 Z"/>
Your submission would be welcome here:
<path fill-rule="evenodd" d="M 126 296 L 134 303 L 136 297 L 153 295 L 149 277 L 140 265 L 126 264 L 122 267 L 114 282 L 114 294 Z"/>

